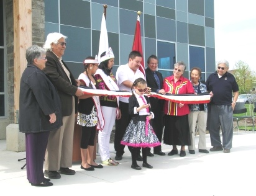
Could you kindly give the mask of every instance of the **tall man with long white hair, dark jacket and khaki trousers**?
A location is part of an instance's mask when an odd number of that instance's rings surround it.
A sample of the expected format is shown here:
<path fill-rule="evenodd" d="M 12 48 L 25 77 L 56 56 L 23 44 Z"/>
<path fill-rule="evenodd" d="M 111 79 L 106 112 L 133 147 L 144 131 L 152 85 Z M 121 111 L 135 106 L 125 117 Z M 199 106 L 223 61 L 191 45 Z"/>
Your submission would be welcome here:
<path fill-rule="evenodd" d="M 59 179 L 60 174 L 74 175 L 72 166 L 73 133 L 78 96 L 83 91 L 78 89 L 79 82 L 74 78 L 68 66 L 62 60 L 66 49 L 66 36 L 61 33 L 49 33 L 45 45 L 47 63 L 43 72 L 50 76 L 57 88 L 62 104 L 63 126 L 51 131 L 45 153 L 45 176 Z"/>

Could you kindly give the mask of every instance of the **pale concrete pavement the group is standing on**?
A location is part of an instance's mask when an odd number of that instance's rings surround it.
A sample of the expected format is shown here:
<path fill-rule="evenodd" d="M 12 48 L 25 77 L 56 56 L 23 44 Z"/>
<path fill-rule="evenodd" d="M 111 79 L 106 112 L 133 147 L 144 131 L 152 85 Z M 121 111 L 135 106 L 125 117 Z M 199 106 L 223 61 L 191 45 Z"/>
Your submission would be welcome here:
<path fill-rule="evenodd" d="M 198 143 L 199 136 L 196 136 Z M 209 135 L 207 148 L 211 148 Z M 168 153 L 171 146 L 162 145 Z M 74 163 L 74 176 L 62 175 L 54 180 L 52 187 L 32 187 L 21 167 L 25 152 L 6 151 L 6 140 L 0 140 L 0 194 L 19 195 L 256 195 L 254 187 L 256 133 L 234 133 L 231 153 L 222 151 L 209 154 L 158 156 L 148 158 L 153 169 L 142 167 L 141 171 L 130 168 L 128 148 L 119 166 L 104 166 L 103 169 L 85 171 L 80 163 Z M 111 144 L 112 158 L 114 145 Z M 179 151 L 180 153 L 180 151 Z M 100 163 L 97 156 L 96 162 Z M 142 166 L 141 162 L 138 162 Z"/>

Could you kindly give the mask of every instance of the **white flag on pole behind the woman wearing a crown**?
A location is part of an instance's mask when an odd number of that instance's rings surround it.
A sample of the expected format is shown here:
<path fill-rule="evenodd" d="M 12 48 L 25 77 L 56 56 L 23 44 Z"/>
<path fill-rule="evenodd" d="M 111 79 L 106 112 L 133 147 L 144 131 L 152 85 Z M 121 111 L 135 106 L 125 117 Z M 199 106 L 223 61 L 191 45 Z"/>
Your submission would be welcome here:
<path fill-rule="evenodd" d="M 106 20 L 103 13 L 103 19 L 101 20 L 101 35 L 99 37 L 99 53 L 98 53 L 99 63 L 101 59 L 101 54 L 104 51 L 107 51 L 108 48 L 109 48 L 109 38 L 107 37 Z"/>

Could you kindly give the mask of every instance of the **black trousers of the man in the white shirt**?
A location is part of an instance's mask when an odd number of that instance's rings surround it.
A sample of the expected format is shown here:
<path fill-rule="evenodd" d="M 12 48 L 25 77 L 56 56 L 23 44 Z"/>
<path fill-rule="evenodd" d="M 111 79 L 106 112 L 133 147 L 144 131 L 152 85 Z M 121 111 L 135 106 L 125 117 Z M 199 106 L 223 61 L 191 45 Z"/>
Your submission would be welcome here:
<path fill-rule="evenodd" d="M 119 101 L 119 109 L 121 110 L 121 118 L 116 120 L 116 131 L 114 138 L 114 148 L 117 156 L 122 156 L 124 154 L 124 148 L 126 146 L 121 145 L 121 140 L 126 132 L 126 128 L 129 125 L 131 117 L 129 115 L 129 104 Z M 132 152 L 132 147 L 128 146 L 130 152 Z M 140 148 L 137 149 L 137 155 L 140 154 Z"/>

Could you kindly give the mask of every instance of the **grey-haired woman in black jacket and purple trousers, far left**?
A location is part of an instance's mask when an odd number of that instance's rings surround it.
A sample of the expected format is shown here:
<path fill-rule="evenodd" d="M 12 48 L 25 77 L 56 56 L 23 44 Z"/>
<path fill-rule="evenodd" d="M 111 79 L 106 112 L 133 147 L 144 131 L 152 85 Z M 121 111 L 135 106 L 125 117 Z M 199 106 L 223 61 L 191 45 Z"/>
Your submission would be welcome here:
<path fill-rule="evenodd" d="M 43 176 L 43 159 L 50 131 L 62 126 L 60 97 L 42 69 L 45 50 L 33 45 L 26 51 L 27 68 L 21 77 L 19 130 L 25 133 L 27 179 L 34 186 L 53 185 Z"/>

